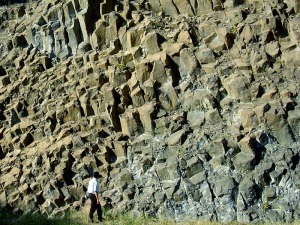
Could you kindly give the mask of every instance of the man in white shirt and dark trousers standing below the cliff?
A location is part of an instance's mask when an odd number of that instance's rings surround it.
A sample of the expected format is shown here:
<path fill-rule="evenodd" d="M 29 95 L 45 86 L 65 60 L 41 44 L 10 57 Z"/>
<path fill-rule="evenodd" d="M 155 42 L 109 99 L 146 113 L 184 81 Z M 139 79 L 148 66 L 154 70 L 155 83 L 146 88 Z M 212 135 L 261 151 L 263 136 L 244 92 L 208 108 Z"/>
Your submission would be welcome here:
<path fill-rule="evenodd" d="M 99 172 L 94 172 L 93 178 L 89 181 L 88 192 L 91 199 L 91 208 L 89 213 L 89 221 L 93 221 L 94 212 L 97 210 L 99 223 L 102 221 L 102 210 L 99 199 L 99 183 L 97 179 L 100 178 Z"/>

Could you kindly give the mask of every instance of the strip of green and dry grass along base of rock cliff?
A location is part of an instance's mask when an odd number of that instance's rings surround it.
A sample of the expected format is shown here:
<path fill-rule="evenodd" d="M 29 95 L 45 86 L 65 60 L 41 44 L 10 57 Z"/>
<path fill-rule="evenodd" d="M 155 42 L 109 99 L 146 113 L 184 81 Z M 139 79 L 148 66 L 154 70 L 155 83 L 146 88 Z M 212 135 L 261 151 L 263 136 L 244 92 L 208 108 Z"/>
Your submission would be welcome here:
<path fill-rule="evenodd" d="M 106 214 L 104 222 L 101 224 L 105 225 L 247 225 L 247 223 L 238 222 L 208 222 L 208 221 L 190 221 L 175 223 L 174 221 L 167 219 L 155 219 L 147 217 L 132 217 L 128 214 Z M 88 216 L 86 213 L 72 211 L 67 213 L 63 218 L 49 219 L 43 215 L 23 215 L 16 217 L 14 215 L 1 214 L 0 213 L 0 224 L 1 225 L 89 225 L 93 224 L 88 222 Z M 288 223 L 263 223 L 261 225 L 284 225 Z M 290 225 L 299 225 L 300 221 L 289 223 Z"/>

